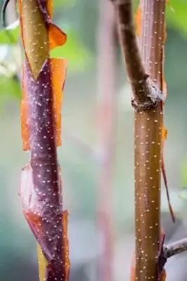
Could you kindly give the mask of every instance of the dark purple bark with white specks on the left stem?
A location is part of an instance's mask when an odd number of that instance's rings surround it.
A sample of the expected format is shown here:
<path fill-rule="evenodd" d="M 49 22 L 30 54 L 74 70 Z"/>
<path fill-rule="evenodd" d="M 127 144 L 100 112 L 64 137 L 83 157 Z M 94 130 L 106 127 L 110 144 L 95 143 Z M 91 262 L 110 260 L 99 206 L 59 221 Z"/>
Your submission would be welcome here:
<path fill-rule="evenodd" d="M 30 68 L 27 62 L 25 63 L 25 86 L 34 188 L 32 194 L 37 197 L 34 201 L 36 206 L 32 209 L 33 214 L 37 212 L 41 217 L 42 228 L 37 241 L 50 263 L 50 269 L 46 268 L 46 281 L 65 281 L 63 204 L 58 176 L 50 60 L 45 61 L 37 81 L 34 81 Z M 52 259 L 49 259 L 49 256 L 52 256 Z"/>

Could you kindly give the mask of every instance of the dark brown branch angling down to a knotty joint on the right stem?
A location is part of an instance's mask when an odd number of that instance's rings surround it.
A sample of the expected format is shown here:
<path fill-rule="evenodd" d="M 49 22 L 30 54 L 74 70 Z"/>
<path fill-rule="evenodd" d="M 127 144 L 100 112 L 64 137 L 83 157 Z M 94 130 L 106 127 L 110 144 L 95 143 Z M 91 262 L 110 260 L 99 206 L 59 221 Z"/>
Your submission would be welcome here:
<path fill-rule="evenodd" d="M 163 95 L 143 67 L 132 18 L 131 0 L 111 1 L 115 5 L 120 44 L 133 89 L 132 105 L 136 111 L 147 110 L 155 107 L 163 99 Z"/>

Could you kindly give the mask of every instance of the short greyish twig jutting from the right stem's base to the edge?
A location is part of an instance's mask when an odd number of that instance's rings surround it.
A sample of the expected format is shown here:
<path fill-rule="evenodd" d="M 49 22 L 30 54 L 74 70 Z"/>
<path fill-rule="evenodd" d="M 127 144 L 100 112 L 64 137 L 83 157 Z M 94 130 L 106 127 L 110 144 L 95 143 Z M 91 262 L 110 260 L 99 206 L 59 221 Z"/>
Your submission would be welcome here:
<path fill-rule="evenodd" d="M 164 255 L 168 259 L 187 250 L 187 238 L 168 244 L 164 247 Z"/>

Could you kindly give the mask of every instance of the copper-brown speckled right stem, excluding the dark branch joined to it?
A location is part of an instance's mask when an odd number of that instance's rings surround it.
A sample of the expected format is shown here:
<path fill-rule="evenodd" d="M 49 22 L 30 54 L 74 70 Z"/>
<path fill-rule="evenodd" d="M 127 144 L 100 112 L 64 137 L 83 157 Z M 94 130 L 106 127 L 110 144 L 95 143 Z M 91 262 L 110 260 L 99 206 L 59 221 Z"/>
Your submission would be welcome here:
<path fill-rule="evenodd" d="M 141 56 L 146 72 L 160 86 L 165 0 L 141 1 Z M 162 104 L 135 112 L 136 279 L 158 280 L 160 247 L 160 168 Z"/>

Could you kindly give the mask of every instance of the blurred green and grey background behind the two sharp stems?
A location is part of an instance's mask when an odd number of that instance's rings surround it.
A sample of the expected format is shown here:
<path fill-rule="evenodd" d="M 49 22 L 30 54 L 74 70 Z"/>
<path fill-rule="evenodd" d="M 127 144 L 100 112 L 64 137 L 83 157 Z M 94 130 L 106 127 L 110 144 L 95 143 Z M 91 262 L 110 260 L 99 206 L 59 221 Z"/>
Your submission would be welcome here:
<path fill-rule="evenodd" d="M 162 225 L 167 242 L 187 235 L 187 1 L 170 0 L 169 5 L 165 167 L 177 219 L 172 223 L 162 183 Z M 16 11 L 11 0 L 8 25 L 17 20 Z M 64 209 L 70 214 L 70 281 L 126 281 L 134 251 L 134 112 L 112 6 L 107 0 L 54 0 L 53 20 L 67 33 L 67 44 L 51 55 L 69 60 L 62 108 L 63 145 L 58 148 L 58 158 Z M 18 27 L 9 32 L 18 39 Z M 20 134 L 21 64 L 20 43 L 13 44 L 1 30 L 2 281 L 38 280 L 36 243 L 18 196 L 20 171 L 29 161 L 29 154 L 22 151 Z M 187 279 L 186 261 L 186 254 L 169 260 L 168 281 Z"/>

